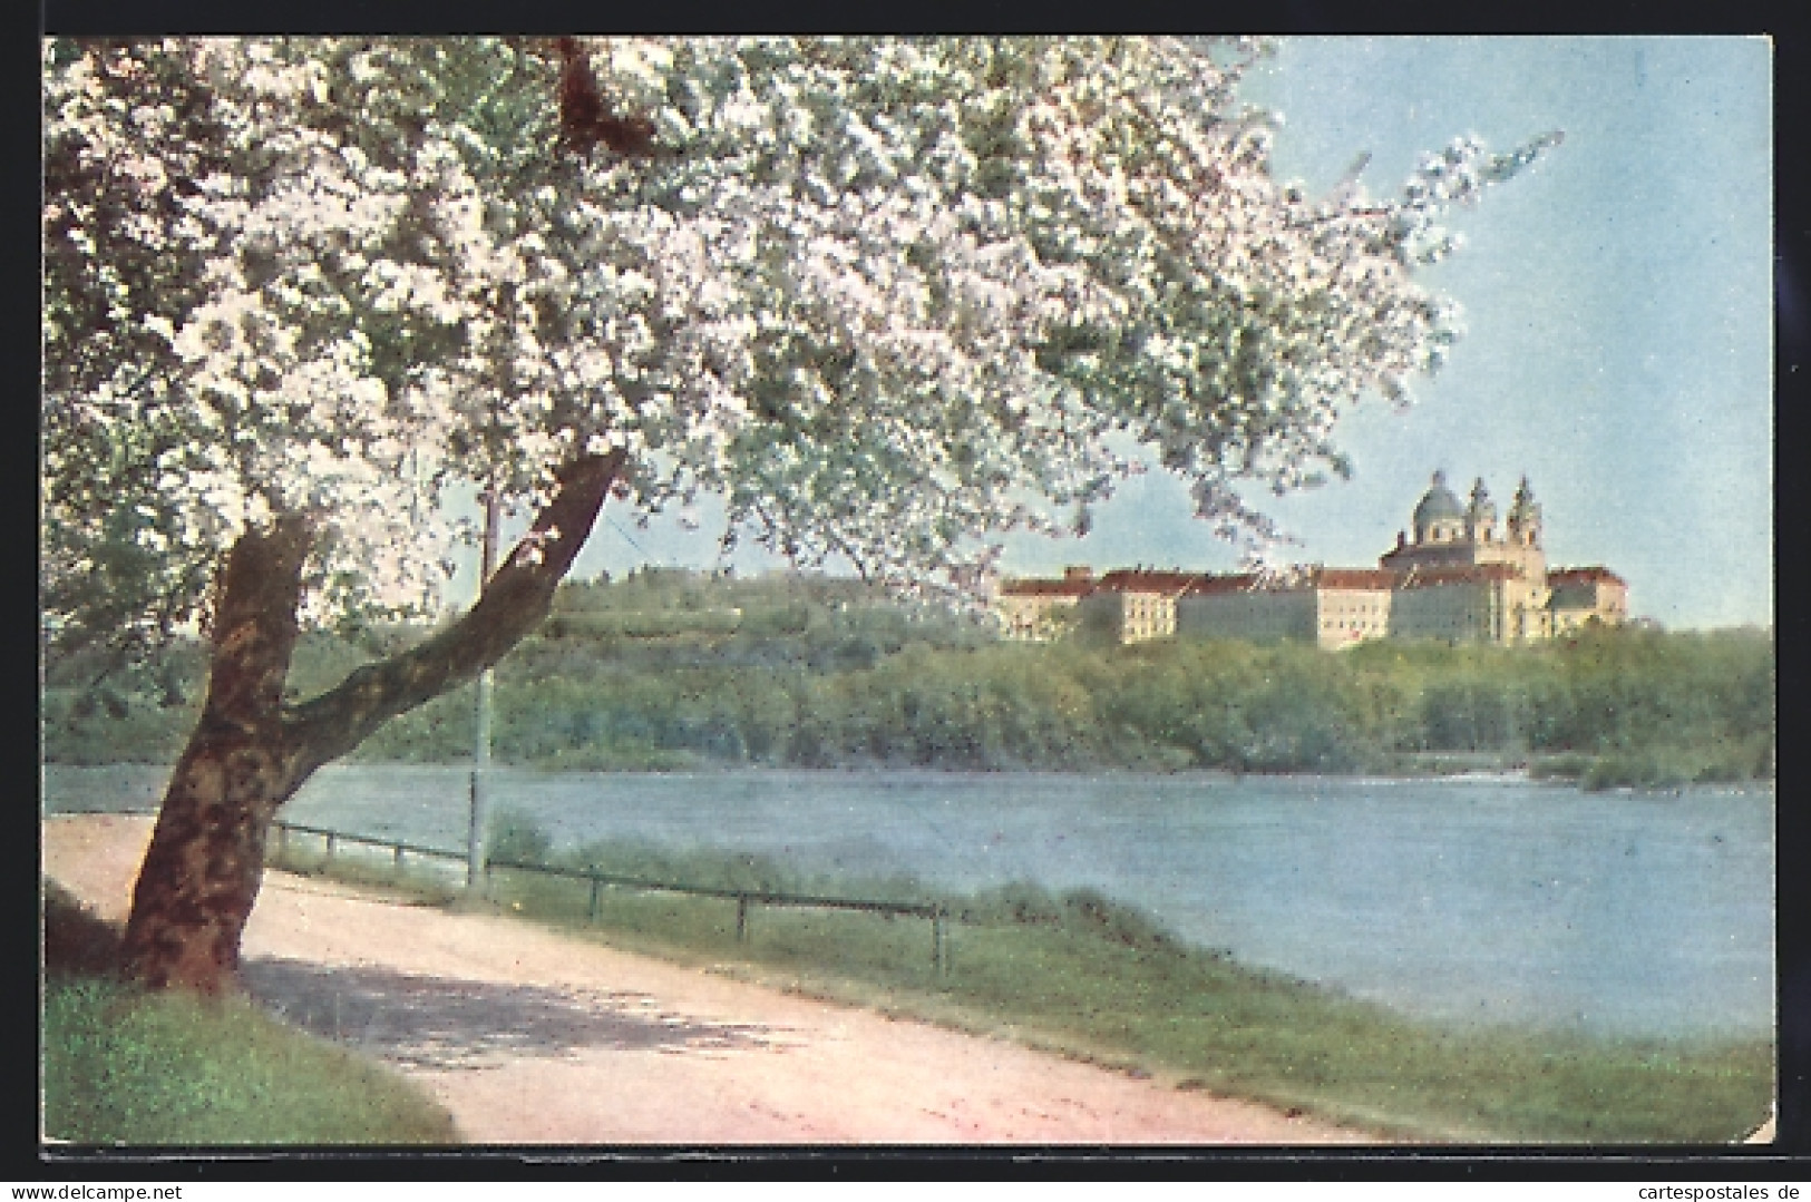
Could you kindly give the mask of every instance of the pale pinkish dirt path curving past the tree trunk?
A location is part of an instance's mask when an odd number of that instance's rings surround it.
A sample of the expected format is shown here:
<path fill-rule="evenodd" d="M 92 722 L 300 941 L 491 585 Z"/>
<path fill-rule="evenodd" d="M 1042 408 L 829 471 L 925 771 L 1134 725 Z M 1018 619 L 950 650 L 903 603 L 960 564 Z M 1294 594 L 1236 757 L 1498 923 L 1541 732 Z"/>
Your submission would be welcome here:
<path fill-rule="evenodd" d="M 123 918 L 149 818 L 43 822 L 45 873 Z M 1326 1144 L 1364 1137 L 529 923 L 266 876 L 252 992 L 397 1066 L 480 1144 Z"/>

